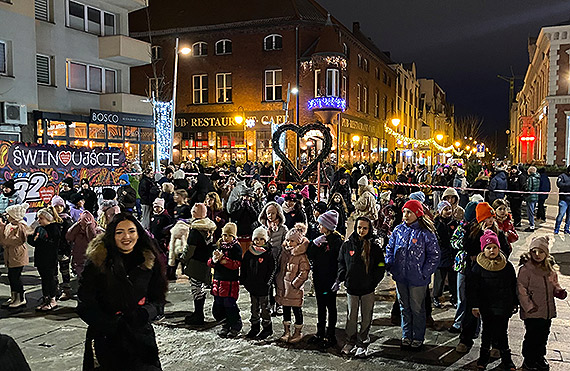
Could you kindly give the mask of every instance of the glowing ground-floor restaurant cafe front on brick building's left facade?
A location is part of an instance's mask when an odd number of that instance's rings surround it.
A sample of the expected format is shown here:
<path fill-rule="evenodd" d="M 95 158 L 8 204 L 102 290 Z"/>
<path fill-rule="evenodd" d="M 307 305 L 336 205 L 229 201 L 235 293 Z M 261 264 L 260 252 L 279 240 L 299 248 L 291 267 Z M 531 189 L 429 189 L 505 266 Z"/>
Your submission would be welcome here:
<path fill-rule="evenodd" d="M 286 121 L 284 111 L 179 113 L 176 115 L 174 161 L 200 158 L 204 163 L 271 161 L 271 124 Z"/>

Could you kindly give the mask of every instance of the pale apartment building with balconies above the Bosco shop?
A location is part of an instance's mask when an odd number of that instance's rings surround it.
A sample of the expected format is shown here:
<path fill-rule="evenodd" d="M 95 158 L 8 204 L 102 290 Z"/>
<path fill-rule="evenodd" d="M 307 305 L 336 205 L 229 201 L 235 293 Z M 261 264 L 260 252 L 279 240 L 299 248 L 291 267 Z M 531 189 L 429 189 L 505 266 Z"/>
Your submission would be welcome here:
<path fill-rule="evenodd" d="M 129 146 L 152 161 L 152 108 L 130 94 L 130 68 L 151 62 L 150 45 L 128 36 L 128 14 L 144 7 L 0 0 L 0 140 Z"/>

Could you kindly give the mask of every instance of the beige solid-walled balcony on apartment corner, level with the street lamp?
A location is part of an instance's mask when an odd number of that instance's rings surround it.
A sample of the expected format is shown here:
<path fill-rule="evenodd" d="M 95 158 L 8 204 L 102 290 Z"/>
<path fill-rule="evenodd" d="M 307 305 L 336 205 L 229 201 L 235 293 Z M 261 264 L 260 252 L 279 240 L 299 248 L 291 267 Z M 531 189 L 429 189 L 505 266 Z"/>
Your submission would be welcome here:
<path fill-rule="evenodd" d="M 150 44 L 124 35 L 99 37 L 99 58 L 127 66 L 150 63 Z"/>

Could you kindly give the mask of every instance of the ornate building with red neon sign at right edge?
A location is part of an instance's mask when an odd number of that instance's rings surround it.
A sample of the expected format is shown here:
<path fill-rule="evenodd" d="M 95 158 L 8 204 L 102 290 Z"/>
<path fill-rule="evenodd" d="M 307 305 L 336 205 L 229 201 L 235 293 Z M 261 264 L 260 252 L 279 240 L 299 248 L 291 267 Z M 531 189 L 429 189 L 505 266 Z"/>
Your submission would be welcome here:
<path fill-rule="evenodd" d="M 528 44 L 524 85 L 511 106 L 514 162 L 570 164 L 570 21 L 546 26 Z"/>

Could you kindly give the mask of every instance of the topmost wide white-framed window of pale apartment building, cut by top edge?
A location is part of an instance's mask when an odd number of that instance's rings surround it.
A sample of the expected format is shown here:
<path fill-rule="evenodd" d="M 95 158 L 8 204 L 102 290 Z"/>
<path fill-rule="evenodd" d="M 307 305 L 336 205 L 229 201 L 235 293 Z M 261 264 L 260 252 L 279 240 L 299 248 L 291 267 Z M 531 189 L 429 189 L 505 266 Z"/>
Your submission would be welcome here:
<path fill-rule="evenodd" d="M 67 26 L 94 35 L 115 35 L 115 15 L 101 9 L 86 6 L 77 1 L 67 2 Z"/>

